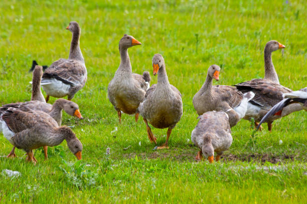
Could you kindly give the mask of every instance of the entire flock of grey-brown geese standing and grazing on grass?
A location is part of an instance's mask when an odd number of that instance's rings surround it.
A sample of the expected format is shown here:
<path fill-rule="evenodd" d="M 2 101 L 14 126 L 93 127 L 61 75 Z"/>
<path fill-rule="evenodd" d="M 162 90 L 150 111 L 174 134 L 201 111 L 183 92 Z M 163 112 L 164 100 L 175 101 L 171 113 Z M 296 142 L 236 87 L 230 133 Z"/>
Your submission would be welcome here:
<path fill-rule="evenodd" d="M 13 144 L 8 157 L 15 157 L 15 147 L 24 149 L 27 160 L 37 162 L 33 149 L 60 144 L 64 139 L 71 152 L 81 159 L 82 143 L 67 126 L 61 126 L 62 110 L 82 119 L 78 105 L 71 101 L 87 80 L 87 70 L 80 49 L 81 29 L 71 21 L 66 29 L 72 32 L 68 59 L 61 58 L 49 67 L 36 65 L 33 70 L 31 101 L 5 104 L 0 107 L 0 130 Z M 152 58 L 153 74 L 158 74 L 157 84 L 150 84 L 150 75 L 132 73 L 128 48 L 141 43 L 133 36 L 124 34 L 119 41 L 120 65 L 108 85 L 108 98 L 118 114 L 139 114 L 146 125 L 148 138 L 157 144 L 149 124 L 156 128 L 168 128 L 166 142 L 158 149 L 168 148 L 169 137 L 183 114 L 180 91 L 170 84 L 166 64 L 161 54 Z M 291 112 L 307 110 L 307 87 L 292 91 L 279 84 L 272 63 L 271 54 L 284 48 L 281 43 L 270 40 L 264 48 L 264 78 L 252 79 L 234 86 L 213 85 L 219 80 L 221 68 L 213 64 L 208 68 L 206 81 L 193 97 L 193 105 L 199 114 L 199 121 L 192 131 L 192 141 L 199 147 L 197 160 L 203 157 L 210 162 L 219 160 L 223 151 L 232 143 L 231 127 L 241 119 L 255 122 L 257 128 L 267 122 L 268 130 L 272 122 Z M 36 62 L 35 62 L 36 63 Z M 47 93 L 46 99 L 41 86 Z M 59 98 L 53 104 L 47 103 L 50 96 Z"/>

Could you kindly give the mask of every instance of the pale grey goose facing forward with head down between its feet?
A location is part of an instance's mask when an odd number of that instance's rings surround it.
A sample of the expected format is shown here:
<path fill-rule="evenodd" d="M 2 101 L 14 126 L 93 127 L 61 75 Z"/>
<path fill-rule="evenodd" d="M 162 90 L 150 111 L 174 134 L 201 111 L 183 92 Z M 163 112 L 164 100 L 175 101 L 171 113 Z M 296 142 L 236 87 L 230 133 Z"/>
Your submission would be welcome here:
<path fill-rule="evenodd" d="M 191 134 L 191 140 L 200 148 L 196 160 L 202 160 L 205 156 L 212 163 L 215 151 L 215 160 L 218 161 L 232 143 L 228 114 L 224 111 L 208 111 L 198 116 L 198 119 Z"/>

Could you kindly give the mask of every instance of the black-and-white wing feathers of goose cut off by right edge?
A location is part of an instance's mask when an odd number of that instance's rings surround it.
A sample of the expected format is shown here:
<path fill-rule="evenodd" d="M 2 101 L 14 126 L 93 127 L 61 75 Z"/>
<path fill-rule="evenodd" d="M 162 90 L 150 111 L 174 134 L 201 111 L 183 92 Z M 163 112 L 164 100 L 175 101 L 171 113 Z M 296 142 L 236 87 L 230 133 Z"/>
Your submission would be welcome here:
<path fill-rule="evenodd" d="M 304 87 L 300 90 L 292 91 L 289 93 L 283 93 L 283 99 L 280 100 L 276 105 L 274 105 L 260 120 L 257 129 L 260 128 L 260 125 L 265 122 L 268 118 L 273 115 L 281 115 L 283 108 L 286 106 L 298 103 L 301 107 L 307 111 L 307 87 Z"/>

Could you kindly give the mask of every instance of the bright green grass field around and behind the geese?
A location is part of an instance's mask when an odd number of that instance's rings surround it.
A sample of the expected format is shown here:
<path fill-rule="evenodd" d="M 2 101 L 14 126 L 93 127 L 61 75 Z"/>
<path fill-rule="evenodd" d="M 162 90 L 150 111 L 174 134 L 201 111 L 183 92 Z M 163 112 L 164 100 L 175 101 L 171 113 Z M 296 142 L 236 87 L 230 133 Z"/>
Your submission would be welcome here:
<path fill-rule="evenodd" d="M 286 46 L 272 54 L 280 83 L 293 90 L 306 86 L 305 1 L 2 0 L 0 11 L 0 104 L 30 100 L 33 59 L 50 65 L 68 57 L 71 33 L 65 27 L 71 20 L 81 26 L 88 70 L 85 87 L 73 98 L 84 119 L 63 113 L 62 122 L 83 143 L 82 160 L 65 141 L 49 148 L 47 161 L 36 150 L 35 166 L 22 150 L 8 159 L 12 145 L 1 134 L 0 202 L 307 202 L 305 111 L 276 120 L 271 133 L 264 124 L 254 137 L 250 122 L 241 120 L 232 128 L 229 151 L 213 164 L 196 162 L 191 142 L 197 124 L 192 98 L 211 64 L 222 66 L 219 84 L 263 77 L 264 45 L 276 39 Z M 124 114 L 119 125 L 107 98 L 124 33 L 142 42 L 128 50 L 133 72 L 148 70 L 156 83 L 151 59 L 161 53 L 170 82 L 183 95 L 184 113 L 169 149 L 152 150 L 141 118 L 135 123 Z M 162 144 L 167 129 L 152 131 Z M 21 175 L 8 177 L 3 169 Z"/>

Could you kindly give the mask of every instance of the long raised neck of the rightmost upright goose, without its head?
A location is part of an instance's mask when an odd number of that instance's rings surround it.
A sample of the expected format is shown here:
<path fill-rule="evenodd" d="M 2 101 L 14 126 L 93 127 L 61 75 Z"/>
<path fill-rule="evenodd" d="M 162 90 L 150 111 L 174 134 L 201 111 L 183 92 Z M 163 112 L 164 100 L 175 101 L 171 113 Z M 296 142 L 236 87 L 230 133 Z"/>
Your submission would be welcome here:
<path fill-rule="evenodd" d="M 272 62 L 272 51 L 267 47 L 264 48 L 264 79 L 279 84 L 278 75 Z"/>

